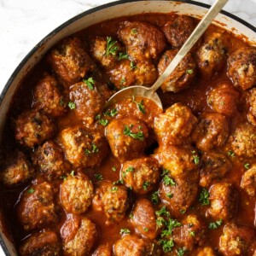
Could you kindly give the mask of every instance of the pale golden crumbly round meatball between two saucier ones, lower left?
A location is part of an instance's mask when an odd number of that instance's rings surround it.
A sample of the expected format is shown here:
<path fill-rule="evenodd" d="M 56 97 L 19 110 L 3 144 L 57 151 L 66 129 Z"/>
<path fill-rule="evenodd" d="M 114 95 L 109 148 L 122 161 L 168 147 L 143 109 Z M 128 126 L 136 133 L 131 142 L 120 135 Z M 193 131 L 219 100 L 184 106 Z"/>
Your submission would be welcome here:
<path fill-rule="evenodd" d="M 61 184 L 61 205 L 66 212 L 81 214 L 90 207 L 93 198 L 93 185 L 89 177 L 70 175 Z"/>

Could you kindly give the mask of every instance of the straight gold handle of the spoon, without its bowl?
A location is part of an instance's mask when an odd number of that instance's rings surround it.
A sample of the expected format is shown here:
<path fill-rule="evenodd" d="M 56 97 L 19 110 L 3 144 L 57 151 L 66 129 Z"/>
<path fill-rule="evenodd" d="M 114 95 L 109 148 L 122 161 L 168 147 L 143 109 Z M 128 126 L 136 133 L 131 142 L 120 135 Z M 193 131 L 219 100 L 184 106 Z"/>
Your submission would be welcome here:
<path fill-rule="evenodd" d="M 156 91 L 160 88 L 161 84 L 163 84 L 168 76 L 173 72 L 173 70 L 177 67 L 178 63 L 182 61 L 183 57 L 189 52 L 189 50 L 194 46 L 201 35 L 207 30 L 207 27 L 211 24 L 212 20 L 216 15 L 221 11 L 224 7 L 225 3 L 229 0 L 217 0 L 207 12 L 207 15 L 200 21 L 200 23 L 195 27 L 194 32 L 191 33 L 188 40 L 183 44 L 183 47 L 177 52 L 177 55 L 171 61 L 164 73 L 162 73 L 155 81 L 155 83 L 150 87 L 149 90 Z"/>

